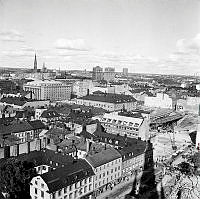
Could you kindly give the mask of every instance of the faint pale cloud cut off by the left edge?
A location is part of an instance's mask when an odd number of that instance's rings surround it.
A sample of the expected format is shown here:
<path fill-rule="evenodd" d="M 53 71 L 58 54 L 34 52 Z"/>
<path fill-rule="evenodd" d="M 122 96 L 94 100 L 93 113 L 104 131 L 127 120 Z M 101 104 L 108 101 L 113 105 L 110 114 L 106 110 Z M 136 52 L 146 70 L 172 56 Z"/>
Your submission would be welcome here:
<path fill-rule="evenodd" d="M 24 37 L 17 30 L 9 30 L 0 32 L 0 40 L 8 42 L 24 42 Z"/>

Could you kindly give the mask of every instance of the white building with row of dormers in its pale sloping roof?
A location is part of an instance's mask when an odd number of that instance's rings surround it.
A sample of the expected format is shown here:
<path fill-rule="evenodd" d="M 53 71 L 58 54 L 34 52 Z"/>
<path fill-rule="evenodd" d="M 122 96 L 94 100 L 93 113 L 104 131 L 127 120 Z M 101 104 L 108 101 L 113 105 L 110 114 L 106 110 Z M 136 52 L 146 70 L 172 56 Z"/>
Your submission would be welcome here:
<path fill-rule="evenodd" d="M 100 122 L 108 133 L 142 140 L 149 138 L 149 120 L 141 114 L 105 113 Z"/>

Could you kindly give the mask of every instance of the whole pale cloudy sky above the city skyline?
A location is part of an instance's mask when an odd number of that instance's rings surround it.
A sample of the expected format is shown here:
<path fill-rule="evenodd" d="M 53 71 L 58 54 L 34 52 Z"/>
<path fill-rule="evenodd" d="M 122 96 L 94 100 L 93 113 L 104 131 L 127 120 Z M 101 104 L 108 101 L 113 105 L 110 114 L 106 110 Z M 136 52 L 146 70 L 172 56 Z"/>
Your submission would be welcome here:
<path fill-rule="evenodd" d="M 0 67 L 200 75 L 200 0 L 0 0 Z"/>

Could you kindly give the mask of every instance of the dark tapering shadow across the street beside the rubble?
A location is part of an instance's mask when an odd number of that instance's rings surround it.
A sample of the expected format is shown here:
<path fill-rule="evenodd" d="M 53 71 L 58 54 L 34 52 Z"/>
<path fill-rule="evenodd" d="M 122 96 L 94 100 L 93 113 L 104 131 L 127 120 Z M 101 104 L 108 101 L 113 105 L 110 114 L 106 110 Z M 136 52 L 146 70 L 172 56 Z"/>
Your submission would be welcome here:
<path fill-rule="evenodd" d="M 141 176 L 141 177 L 140 177 Z M 144 166 L 142 174 L 135 178 L 132 190 L 125 199 L 164 199 L 164 189 L 161 185 L 160 193 L 157 191 L 155 170 L 153 161 L 153 145 L 150 141 L 146 143 Z"/>

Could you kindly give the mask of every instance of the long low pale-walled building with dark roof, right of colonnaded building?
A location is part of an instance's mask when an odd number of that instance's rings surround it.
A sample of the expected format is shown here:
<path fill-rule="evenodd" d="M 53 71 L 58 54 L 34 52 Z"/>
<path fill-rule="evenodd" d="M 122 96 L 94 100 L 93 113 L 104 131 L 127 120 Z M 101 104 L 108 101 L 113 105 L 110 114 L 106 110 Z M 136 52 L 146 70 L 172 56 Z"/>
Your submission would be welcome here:
<path fill-rule="evenodd" d="M 103 93 L 78 98 L 76 103 L 78 105 L 99 107 L 108 111 L 120 111 L 122 109 L 130 111 L 135 109 L 137 101 L 129 95 Z"/>

